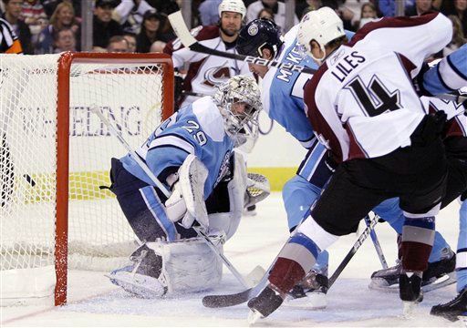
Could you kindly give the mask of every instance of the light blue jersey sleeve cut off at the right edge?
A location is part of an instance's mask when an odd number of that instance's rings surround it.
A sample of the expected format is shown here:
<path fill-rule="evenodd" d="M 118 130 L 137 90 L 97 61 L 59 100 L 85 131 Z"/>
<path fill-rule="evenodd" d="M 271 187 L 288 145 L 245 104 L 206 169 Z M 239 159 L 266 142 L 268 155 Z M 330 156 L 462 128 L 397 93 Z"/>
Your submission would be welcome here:
<path fill-rule="evenodd" d="M 467 87 L 467 45 L 442 58 L 425 72 L 423 87 L 433 96 Z"/>

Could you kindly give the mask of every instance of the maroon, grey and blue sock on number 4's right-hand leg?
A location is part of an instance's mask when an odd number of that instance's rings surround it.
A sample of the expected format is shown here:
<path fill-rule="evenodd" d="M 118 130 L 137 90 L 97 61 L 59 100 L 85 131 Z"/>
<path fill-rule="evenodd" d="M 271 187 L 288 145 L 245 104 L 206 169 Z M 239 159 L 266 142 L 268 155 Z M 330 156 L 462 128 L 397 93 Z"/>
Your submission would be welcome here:
<path fill-rule="evenodd" d="M 434 241 L 434 217 L 406 218 L 402 229 L 402 268 L 406 272 L 427 270 Z"/>

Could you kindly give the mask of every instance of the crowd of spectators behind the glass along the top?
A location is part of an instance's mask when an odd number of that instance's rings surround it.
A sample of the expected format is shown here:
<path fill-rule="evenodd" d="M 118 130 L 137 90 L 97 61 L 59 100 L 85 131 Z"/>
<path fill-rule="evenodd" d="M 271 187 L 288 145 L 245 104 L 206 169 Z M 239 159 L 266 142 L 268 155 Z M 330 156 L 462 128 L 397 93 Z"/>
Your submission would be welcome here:
<path fill-rule="evenodd" d="M 192 26 L 216 25 L 221 0 L 192 0 Z M 265 17 L 285 31 L 285 3 L 244 0 L 246 21 Z M 52 54 L 79 51 L 80 0 L 1 0 L 1 15 L 16 31 L 24 53 Z M 96 0 L 93 16 L 93 51 L 157 52 L 175 35 L 167 15 L 179 10 L 182 0 Z M 396 14 L 394 0 L 296 0 L 295 24 L 320 6 L 335 9 L 345 28 L 356 31 L 382 16 Z M 441 11 L 452 21 L 453 38 L 437 56 L 449 55 L 466 43 L 467 0 L 405 0 L 405 15 Z"/>

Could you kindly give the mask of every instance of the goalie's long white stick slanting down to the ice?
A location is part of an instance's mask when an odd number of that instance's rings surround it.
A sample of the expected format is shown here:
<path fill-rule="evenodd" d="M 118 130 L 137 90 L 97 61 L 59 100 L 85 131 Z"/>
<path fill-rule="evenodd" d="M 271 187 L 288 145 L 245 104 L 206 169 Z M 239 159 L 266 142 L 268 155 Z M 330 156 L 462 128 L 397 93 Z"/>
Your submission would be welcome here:
<path fill-rule="evenodd" d="M 171 196 L 171 192 L 167 190 L 167 188 L 161 183 L 159 179 L 152 173 L 152 171 L 148 168 L 146 163 L 144 163 L 141 159 L 140 156 L 133 150 L 131 149 L 130 145 L 128 142 L 121 136 L 119 131 L 109 122 L 109 119 L 106 118 L 100 111 L 99 108 L 97 107 L 92 107 L 91 111 L 95 113 L 102 123 L 104 123 L 105 126 L 109 128 L 110 134 L 112 134 L 115 138 L 119 139 L 119 142 L 130 152 L 130 155 L 133 157 L 133 159 L 138 163 L 140 168 L 150 177 L 152 182 L 159 188 L 162 193 L 165 195 L 165 197 L 169 198 Z M 244 277 L 238 272 L 235 267 L 233 267 L 233 264 L 223 255 L 222 252 L 220 252 L 217 247 L 213 244 L 213 241 L 209 238 L 208 235 L 206 235 L 201 229 L 198 227 L 192 227 L 194 231 L 198 233 L 198 235 L 203 239 L 203 241 L 206 242 L 206 244 L 209 246 L 209 248 L 223 261 L 223 264 L 229 269 L 230 272 L 235 276 L 235 278 L 244 285 L 245 288 L 249 287 L 249 284 L 245 282 Z"/>

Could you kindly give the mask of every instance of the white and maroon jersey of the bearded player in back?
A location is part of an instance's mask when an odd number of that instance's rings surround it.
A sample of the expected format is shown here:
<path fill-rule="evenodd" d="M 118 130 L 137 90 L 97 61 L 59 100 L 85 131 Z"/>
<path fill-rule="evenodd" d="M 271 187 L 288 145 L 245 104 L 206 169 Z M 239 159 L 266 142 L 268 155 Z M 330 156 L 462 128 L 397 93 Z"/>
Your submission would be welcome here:
<path fill-rule="evenodd" d="M 225 48 L 220 36 L 219 26 L 198 26 L 192 29 L 194 36 L 202 46 L 237 53 L 235 46 Z M 181 68 L 189 63 L 187 76 L 184 79 L 183 90 L 212 96 L 215 92 L 214 86 L 219 85 L 230 77 L 237 75 L 252 76 L 248 64 L 240 60 L 223 58 L 220 56 L 209 56 L 197 53 L 182 45 L 180 39 L 175 39 L 167 44 L 164 53 L 171 55 L 173 67 Z M 199 97 L 185 97 L 180 107 L 191 104 Z"/>

